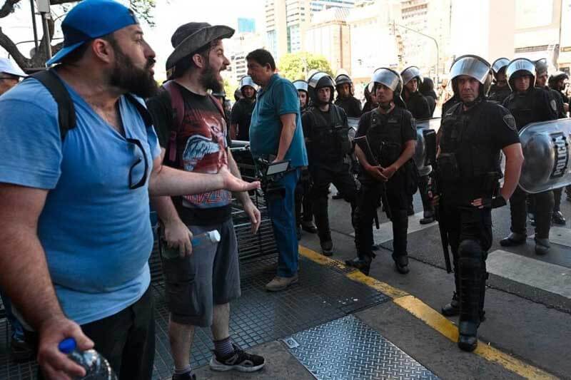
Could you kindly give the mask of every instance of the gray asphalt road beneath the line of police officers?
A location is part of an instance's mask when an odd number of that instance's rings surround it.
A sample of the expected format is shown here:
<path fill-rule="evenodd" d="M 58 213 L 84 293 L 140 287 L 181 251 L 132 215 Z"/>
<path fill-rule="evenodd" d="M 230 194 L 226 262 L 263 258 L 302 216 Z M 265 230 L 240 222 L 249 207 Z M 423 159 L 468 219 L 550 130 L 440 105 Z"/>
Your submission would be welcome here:
<path fill-rule="evenodd" d="M 414 197 L 414 205 L 415 212 L 422 212 L 418 193 Z M 565 192 L 562 212 L 571 220 L 571 202 L 565 200 Z M 380 210 L 378 214 L 381 230 L 374 230 L 375 241 L 382 242 L 387 235 L 383 231 L 390 231 L 390 223 L 384 225 L 388 222 L 387 217 Z M 417 230 L 420 228 L 419 217 L 417 214 L 409 218 L 410 273 L 403 276 L 395 272 L 390 258 L 392 241 L 387 240 L 382 242 L 383 248 L 377 252 L 370 276 L 403 289 L 433 309 L 440 310 L 452 295 L 453 274 L 447 274 L 444 269 L 438 226 L 433 224 Z M 335 244 L 333 258 L 347 260 L 354 257 L 348 203 L 330 199 L 329 218 Z M 492 222 L 494 243 L 488 259 L 488 272 L 492 274 L 487 282 L 487 319 L 479 329 L 480 339 L 556 376 L 571 378 L 571 221 L 565 226 L 552 228 L 557 235 L 552 240 L 557 240 L 557 243 L 552 242 L 549 254 L 542 257 L 535 255 L 532 239 L 519 247 L 500 246 L 500 239 L 510 231 L 509 207 L 494 210 Z M 533 227 L 528 225 L 528 235 L 533 233 Z M 300 245 L 320 252 L 316 235 L 304 232 Z M 455 318 L 450 320 L 458 322 Z M 404 335 L 403 342 L 399 342 L 398 335 L 392 337 L 393 343 L 406 346 Z M 427 352 L 434 351 L 433 346 L 428 346 L 433 344 L 430 342 L 427 341 L 424 347 Z M 430 368 L 427 363 L 430 357 L 423 360 Z M 452 373 L 449 376 L 453 378 Z"/>

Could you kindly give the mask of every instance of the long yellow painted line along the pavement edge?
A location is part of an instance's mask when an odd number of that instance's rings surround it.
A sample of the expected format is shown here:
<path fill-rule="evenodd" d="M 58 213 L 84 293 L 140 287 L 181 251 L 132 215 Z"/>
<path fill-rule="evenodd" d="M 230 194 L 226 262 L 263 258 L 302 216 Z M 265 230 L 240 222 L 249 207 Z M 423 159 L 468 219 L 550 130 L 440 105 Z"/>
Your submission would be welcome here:
<path fill-rule="evenodd" d="M 299 253 L 300 255 L 303 255 L 309 260 L 317 262 L 320 265 L 338 267 L 339 269 L 347 268 L 344 262 L 340 260 L 330 259 L 329 257 L 320 255 L 318 252 L 310 250 L 309 248 L 303 247 L 301 245 L 299 246 Z M 453 322 L 443 317 L 443 315 L 437 312 L 435 309 L 422 302 L 420 299 L 408 294 L 401 289 L 392 287 L 385 282 L 379 281 L 378 279 L 366 276 L 358 270 L 350 272 L 346 274 L 346 276 L 353 281 L 360 282 L 367 285 L 368 287 L 372 287 L 373 289 L 378 290 L 379 292 L 383 292 L 384 294 L 391 297 L 395 304 L 398 304 L 398 306 L 402 307 L 410 314 L 413 314 L 415 317 L 425 322 L 425 324 L 428 324 L 428 326 L 432 327 L 440 334 L 443 334 L 452 342 L 458 342 L 458 327 L 456 327 Z M 494 363 L 500 364 L 500 366 L 503 366 L 508 371 L 512 371 L 513 373 L 518 374 L 525 379 L 557 379 L 556 376 L 553 376 L 552 374 L 549 374 L 548 372 L 543 371 L 542 369 L 539 369 L 535 366 L 527 364 L 525 361 L 516 359 L 510 354 L 506 354 L 499 349 L 495 349 L 494 347 L 490 346 L 490 344 L 486 344 L 482 341 L 478 341 L 477 348 L 475 351 L 473 351 L 473 353 L 481 356 L 487 361 L 492 361 Z"/>

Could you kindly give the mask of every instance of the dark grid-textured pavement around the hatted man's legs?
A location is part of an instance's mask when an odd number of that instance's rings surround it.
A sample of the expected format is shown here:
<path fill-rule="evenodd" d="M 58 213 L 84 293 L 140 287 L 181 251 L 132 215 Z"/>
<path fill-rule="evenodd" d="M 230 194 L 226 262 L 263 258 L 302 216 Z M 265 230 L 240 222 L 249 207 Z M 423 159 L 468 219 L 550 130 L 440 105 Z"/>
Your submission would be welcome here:
<path fill-rule="evenodd" d="M 385 294 L 345 274 L 300 260 L 299 283 L 271 293 L 264 286 L 275 272 L 276 257 L 241 261 L 242 296 L 231 303 L 230 334 L 243 349 L 290 337 L 296 332 L 330 322 L 358 310 L 388 301 Z M 153 282 L 156 320 L 156 351 L 153 379 L 170 379 L 173 361 L 168 343 L 168 309 L 162 282 Z M 0 320 L 0 379 L 33 379 L 36 361 L 16 364 L 9 358 L 6 319 Z M 213 349 L 210 329 L 196 329 L 191 351 L 193 367 L 207 364 Z"/>

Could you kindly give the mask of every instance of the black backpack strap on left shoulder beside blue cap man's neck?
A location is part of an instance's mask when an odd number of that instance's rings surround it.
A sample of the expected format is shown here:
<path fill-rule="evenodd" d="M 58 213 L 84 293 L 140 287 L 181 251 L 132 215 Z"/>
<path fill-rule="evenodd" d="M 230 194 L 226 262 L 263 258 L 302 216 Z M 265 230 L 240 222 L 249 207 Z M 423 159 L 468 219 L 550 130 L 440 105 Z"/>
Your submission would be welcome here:
<path fill-rule="evenodd" d="M 63 142 L 68 131 L 76 127 L 76 108 L 74 102 L 71 101 L 69 91 L 61 79 L 51 70 L 40 71 L 29 76 L 29 78 L 34 78 L 43 84 L 58 104 L 59 135 Z"/>

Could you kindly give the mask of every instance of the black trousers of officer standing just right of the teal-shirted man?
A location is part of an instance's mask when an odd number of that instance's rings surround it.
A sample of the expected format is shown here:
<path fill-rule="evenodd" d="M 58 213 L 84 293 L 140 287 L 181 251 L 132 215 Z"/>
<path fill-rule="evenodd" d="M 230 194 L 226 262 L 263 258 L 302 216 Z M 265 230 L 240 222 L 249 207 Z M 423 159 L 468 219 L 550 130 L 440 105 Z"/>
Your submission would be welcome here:
<path fill-rule="evenodd" d="M 318 229 L 320 241 L 331 240 L 331 230 L 329 227 L 328 195 L 329 186 L 333 183 L 343 199 L 351 205 L 351 220 L 355 211 L 355 201 L 357 197 L 357 185 L 353 175 L 349 173 L 349 165 L 343 160 L 332 163 L 311 163 L 309 173 L 312 178 L 312 188 L 310 200 L 313 202 L 313 216 L 315 217 L 315 227 Z M 355 227 L 355 225 L 353 225 Z"/>

